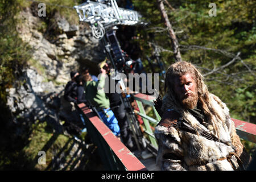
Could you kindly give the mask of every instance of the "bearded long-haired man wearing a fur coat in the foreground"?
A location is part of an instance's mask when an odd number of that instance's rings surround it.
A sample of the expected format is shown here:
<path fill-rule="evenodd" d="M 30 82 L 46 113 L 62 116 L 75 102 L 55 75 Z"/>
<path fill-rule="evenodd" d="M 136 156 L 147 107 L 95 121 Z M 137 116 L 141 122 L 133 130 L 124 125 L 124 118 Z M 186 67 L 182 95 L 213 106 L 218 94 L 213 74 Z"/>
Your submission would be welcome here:
<path fill-rule="evenodd" d="M 156 162 L 162 170 L 242 170 L 250 160 L 229 109 L 209 93 L 203 76 L 186 61 L 166 73 L 162 119 L 155 127 Z"/>

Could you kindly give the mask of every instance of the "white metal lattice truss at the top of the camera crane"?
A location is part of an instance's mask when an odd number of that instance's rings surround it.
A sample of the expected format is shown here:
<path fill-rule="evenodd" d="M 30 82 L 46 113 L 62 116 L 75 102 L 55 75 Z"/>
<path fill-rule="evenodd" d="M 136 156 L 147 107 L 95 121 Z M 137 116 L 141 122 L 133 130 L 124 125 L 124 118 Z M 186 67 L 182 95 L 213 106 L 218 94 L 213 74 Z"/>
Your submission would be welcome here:
<path fill-rule="evenodd" d="M 110 0 L 108 4 L 87 1 L 81 5 L 74 6 L 79 20 L 90 23 L 95 38 L 101 39 L 108 26 L 143 24 L 141 15 L 134 10 L 119 8 L 115 0 Z M 104 1 L 103 1 L 104 2 Z"/>

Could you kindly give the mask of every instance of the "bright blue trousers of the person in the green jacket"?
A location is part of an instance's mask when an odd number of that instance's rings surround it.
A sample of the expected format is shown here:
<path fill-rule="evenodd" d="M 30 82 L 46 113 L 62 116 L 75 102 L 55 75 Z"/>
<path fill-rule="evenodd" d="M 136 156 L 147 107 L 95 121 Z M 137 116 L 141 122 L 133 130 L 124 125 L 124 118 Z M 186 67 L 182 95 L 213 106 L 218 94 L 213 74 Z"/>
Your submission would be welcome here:
<path fill-rule="evenodd" d="M 114 135 L 118 136 L 120 134 L 120 128 L 118 126 L 118 121 L 117 118 L 115 118 L 113 111 L 109 109 L 104 109 L 104 112 L 99 111 L 98 114 L 100 114 L 105 125 L 109 127 Z M 107 117 L 106 115 L 108 115 L 109 117 Z"/>

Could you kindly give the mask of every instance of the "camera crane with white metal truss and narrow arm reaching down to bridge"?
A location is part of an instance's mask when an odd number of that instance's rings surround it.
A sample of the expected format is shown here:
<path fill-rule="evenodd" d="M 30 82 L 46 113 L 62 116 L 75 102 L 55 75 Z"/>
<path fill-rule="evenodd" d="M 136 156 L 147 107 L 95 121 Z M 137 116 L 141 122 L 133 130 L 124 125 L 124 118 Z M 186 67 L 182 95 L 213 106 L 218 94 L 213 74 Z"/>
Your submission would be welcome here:
<path fill-rule="evenodd" d="M 126 60 L 115 35 L 116 26 L 119 24 L 127 26 L 147 24 L 141 20 L 142 16 L 137 11 L 119 8 L 115 0 L 86 1 L 81 5 L 74 6 L 74 9 L 76 9 L 81 22 L 90 24 L 94 38 L 102 39 L 106 55 L 112 62 L 115 73 L 123 72 L 122 69 L 123 65 L 126 64 Z M 147 148 L 149 151 L 156 153 L 156 148 L 152 148 L 150 142 L 143 137 L 131 106 L 130 94 L 127 93 L 122 78 L 115 78 L 115 80 L 118 80 L 122 89 L 121 101 L 125 105 L 129 125 L 138 150 L 142 152 Z"/>

